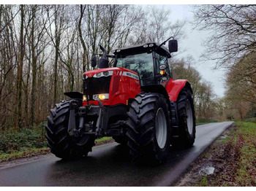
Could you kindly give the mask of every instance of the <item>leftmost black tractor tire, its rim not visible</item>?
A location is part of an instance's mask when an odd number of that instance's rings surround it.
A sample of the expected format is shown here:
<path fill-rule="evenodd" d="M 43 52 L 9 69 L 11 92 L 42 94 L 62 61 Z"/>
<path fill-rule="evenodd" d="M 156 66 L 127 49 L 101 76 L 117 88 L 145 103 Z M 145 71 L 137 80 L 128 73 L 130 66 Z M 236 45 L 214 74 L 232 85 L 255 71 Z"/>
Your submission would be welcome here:
<path fill-rule="evenodd" d="M 69 123 L 69 103 L 72 100 L 63 101 L 56 104 L 54 109 L 50 109 L 47 117 L 48 125 L 45 126 L 45 137 L 48 147 L 56 157 L 64 159 L 74 159 L 87 156 L 94 146 L 95 136 L 84 135 L 78 138 L 69 136 L 67 132 Z"/>

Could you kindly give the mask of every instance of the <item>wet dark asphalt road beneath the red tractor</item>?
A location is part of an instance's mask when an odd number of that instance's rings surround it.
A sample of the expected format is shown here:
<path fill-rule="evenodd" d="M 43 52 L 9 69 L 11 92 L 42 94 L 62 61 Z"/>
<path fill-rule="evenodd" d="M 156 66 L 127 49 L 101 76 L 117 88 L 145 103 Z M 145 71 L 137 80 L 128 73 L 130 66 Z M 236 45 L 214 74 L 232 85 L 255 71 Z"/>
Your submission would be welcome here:
<path fill-rule="evenodd" d="M 113 143 L 94 147 L 81 160 L 47 157 L 2 168 L 0 186 L 170 186 L 232 123 L 198 125 L 195 145 L 171 150 L 163 165 L 136 165 L 126 147 Z"/>

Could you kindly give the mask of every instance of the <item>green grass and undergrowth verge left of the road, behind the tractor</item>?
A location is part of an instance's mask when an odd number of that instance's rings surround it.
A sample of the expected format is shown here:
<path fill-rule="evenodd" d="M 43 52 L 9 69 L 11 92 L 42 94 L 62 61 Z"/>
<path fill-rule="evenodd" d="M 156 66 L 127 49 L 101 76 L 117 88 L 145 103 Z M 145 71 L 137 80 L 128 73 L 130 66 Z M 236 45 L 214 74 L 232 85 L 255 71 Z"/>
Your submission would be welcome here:
<path fill-rule="evenodd" d="M 45 139 L 45 122 L 36 128 L 22 128 L 20 132 L 15 129 L 0 132 L 0 163 L 35 155 L 50 153 Z M 95 144 L 112 142 L 112 137 L 96 139 Z"/>

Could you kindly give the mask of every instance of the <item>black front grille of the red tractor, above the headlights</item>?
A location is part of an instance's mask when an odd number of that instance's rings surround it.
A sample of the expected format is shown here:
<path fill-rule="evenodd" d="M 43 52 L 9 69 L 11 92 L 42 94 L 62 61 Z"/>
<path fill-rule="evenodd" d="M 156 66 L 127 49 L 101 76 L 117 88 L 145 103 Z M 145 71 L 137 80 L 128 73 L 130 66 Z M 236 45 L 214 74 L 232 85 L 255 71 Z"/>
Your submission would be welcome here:
<path fill-rule="evenodd" d="M 94 94 L 109 93 L 111 76 L 99 78 L 91 77 L 84 80 L 83 93 L 89 95 L 89 101 L 94 100 L 92 98 Z"/>

